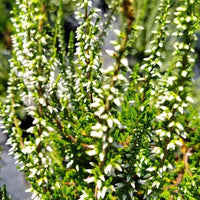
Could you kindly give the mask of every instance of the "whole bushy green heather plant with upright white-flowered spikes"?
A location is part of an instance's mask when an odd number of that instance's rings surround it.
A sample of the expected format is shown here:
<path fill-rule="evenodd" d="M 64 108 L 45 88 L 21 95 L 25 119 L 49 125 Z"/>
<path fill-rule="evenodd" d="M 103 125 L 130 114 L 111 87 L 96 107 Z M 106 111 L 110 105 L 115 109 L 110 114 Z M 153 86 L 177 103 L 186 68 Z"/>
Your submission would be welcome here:
<path fill-rule="evenodd" d="M 16 0 L 1 116 L 33 199 L 200 198 L 200 123 L 191 97 L 200 2 L 156 1 L 142 60 L 139 2 L 110 1 L 105 17 L 92 1 L 77 3 L 79 26 L 66 52 L 62 0 L 54 24 L 47 0 Z M 120 30 L 112 30 L 116 16 Z M 103 46 L 112 31 L 107 66 Z M 21 110 L 33 118 L 27 130 Z"/>

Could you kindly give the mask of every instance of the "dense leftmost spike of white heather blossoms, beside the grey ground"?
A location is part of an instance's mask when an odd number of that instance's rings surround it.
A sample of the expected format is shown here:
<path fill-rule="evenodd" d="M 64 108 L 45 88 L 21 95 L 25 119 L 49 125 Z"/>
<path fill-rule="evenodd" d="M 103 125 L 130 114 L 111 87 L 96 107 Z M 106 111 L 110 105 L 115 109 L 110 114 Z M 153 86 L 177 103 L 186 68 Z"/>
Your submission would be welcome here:
<path fill-rule="evenodd" d="M 15 27 L 12 36 L 15 56 L 10 60 L 12 76 L 9 81 L 8 104 L 5 106 L 8 120 L 13 121 L 15 126 L 10 127 L 11 134 L 7 143 L 11 145 L 10 154 L 14 154 L 16 163 L 23 164 L 20 170 L 29 174 L 28 179 L 46 187 L 49 185 L 47 177 L 53 174 L 52 158 L 47 154 L 53 149 L 52 142 L 48 145 L 45 143 L 55 130 L 48 126 L 42 110 L 46 110 L 46 113 L 57 112 L 57 109 L 50 105 L 49 99 L 55 87 L 55 73 L 60 63 L 54 56 L 54 49 L 49 48 L 53 39 L 44 31 L 46 15 L 41 12 L 40 4 L 30 1 L 16 1 L 16 4 L 13 11 L 15 17 L 12 18 Z M 20 129 L 21 122 L 15 116 L 14 109 L 21 109 L 21 105 L 25 106 L 26 114 L 34 119 L 33 126 L 28 130 Z M 5 126 L 8 127 L 9 125 Z M 23 132 L 34 135 L 34 139 L 25 138 L 23 141 Z M 33 192 L 33 199 L 42 198 L 36 188 L 30 190 Z"/>

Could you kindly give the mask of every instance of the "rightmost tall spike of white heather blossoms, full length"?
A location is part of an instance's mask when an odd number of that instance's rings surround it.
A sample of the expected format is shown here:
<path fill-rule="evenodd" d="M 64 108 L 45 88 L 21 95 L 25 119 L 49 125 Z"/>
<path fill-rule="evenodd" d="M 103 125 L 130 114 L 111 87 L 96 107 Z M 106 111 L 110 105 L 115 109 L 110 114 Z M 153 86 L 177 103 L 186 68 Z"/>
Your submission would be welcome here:
<path fill-rule="evenodd" d="M 154 142 L 151 150 L 151 156 L 156 157 L 162 163 L 160 168 L 156 170 L 158 178 L 155 181 L 158 187 L 160 184 L 159 179 L 161 180 L 167 171 L 174 170 L 175 163 L 168 157 L 169 152 L 176 152 L 177 154 L 177 151 L 179 151 L 182 154 L 180 149 L 183 146 L 183 140 L 188 135 L 188 124 L 184 120 L 180 120 L 180 116 L 187 115 L 189 112 L 188 105 L 192 102 L 190 91 L 186 89 L 188 88 L 187 80 L 191 78 L 194 63 L 191 54 L 194 52 L 192 42 L 194 41 L 195 34 L 191 27 L 197 22 L 195 16 L 187 16 L 186 14 L 186 11 L 190 10 L 189 7 L 192 6 L 191 3 L 185 1 L 174 12 L 175 17 L 173 22 L 177 27 L 177 31 L 171 33 L 171 35 L 178 38 L 174 43 L 173 52 L 173 56 L 176 56 L 177 60 L 171 64 L 176 67 L 173 72 L 169 67 L 164 75 L 159 75 L 159 81 L 155 90 L 152 91 L 153 95 L 158 94 L 155 102 L 155 107 L 159 110 L 159 113 L 155 117 L 155 123 L 158 128 L 154 131 L 157 144 Z M 184 38 L 191 38 L 191 40 L 185 40 Z M 174 88 L 177 89 L 174 90 Z M 151 195 L 146 198 L 151 198 Z"/>

